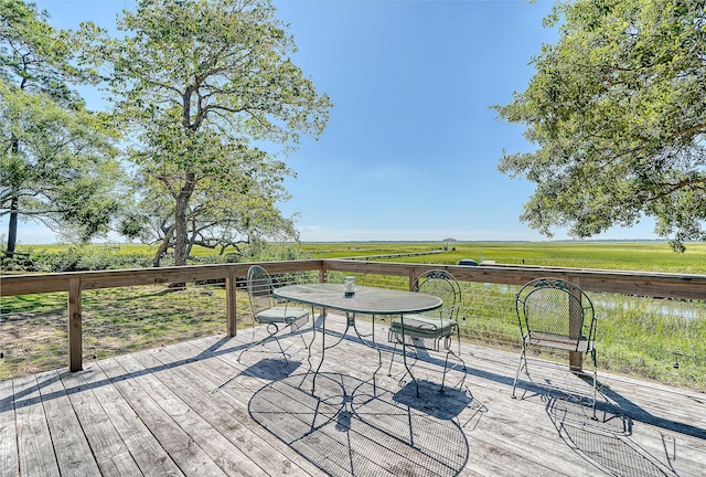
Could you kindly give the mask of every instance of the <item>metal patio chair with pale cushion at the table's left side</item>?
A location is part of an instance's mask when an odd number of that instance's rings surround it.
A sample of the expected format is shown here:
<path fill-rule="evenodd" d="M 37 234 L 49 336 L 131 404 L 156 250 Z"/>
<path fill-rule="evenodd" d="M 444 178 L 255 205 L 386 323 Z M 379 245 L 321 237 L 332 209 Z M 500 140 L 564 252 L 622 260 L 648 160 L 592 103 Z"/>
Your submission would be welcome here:
<path fill-rule="evenodd" d="M 307 348 L 307 341 L 301 336 L 300 328 L 309 321 L 309 310 L 290 306 L 288 303 L 278 303 L 272 296 L 272 278 L 259 265 L 253 265 L 247 271 L 247 293 L 253 309 L 253 340 L 255 341 L 256 324 L 267 326 L 267 336 L 240 351 L 238 361 L 240 361 L 240 357 L 245 351 L 257 344 L 265 344 L 269 340 L 275 340 L 285 357 L 285 362 L 288 362 L 287 354 L 277 338 L 277 333 L 286 328 L 290 328 L 291 332 L 297 331 L 304 343 L 304 348 Z"/>

